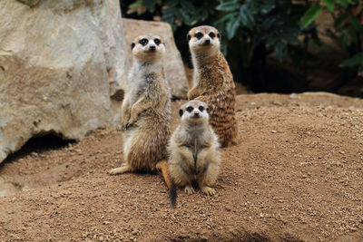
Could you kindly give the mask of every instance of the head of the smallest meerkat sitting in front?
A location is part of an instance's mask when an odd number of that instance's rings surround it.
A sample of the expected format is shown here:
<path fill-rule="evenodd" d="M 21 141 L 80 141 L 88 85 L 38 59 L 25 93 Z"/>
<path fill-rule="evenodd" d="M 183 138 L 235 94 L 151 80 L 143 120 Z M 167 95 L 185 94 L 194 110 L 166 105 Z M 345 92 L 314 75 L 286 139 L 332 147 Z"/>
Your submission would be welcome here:
<path fill-rule="evenodd" d="M 190 102 L 184 103 L 182 105 L 181 109 L 179 110 L 179 115 L 182 118 L 182 122 L 208 122 L 210 117 L 210 109 L 205 102 L 191 100 Z"/>

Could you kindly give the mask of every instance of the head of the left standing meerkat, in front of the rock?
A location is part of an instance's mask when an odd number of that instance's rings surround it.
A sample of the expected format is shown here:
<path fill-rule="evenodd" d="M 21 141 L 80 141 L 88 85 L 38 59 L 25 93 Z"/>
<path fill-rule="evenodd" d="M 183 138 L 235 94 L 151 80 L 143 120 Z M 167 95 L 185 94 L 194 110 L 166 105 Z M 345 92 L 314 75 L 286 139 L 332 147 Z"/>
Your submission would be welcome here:
<path fill-rule="evenodd" d="M 165 45 L 156 34 L 141 34 L 131 44 L 132 54 L 142 62 L 154 62 L 162 58 Z"/>

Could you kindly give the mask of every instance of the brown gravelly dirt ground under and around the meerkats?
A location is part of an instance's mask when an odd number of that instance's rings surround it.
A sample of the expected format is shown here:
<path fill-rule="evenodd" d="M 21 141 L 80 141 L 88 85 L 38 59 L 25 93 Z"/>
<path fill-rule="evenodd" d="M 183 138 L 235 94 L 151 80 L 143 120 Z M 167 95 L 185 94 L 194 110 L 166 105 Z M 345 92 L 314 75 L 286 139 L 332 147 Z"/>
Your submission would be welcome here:
<path fill-rule="evenodd" d="M 363 241 L 363 100 L 328 93 L 237 99 L 239 145 L 217 195 L 109 176 L 121 131 L 29 141 L 0 165 L 0 241 Z M 173 127 L 178 121 L 173 103 Z"/>

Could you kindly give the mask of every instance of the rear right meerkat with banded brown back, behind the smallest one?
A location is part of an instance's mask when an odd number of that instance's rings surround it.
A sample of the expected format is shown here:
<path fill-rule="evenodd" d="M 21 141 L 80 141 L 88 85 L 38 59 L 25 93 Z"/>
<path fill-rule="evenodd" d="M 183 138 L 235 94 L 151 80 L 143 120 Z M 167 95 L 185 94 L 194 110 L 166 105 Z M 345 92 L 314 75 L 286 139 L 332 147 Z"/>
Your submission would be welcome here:
<path fill-rule="evenodd" d="M 206 102 L 210 123 L 222 147 L 237 143 L 235 85 L 230 67 L 220 50 L 221 34 L 211 26 L 192 28 L 187 34 L 194 67 L 188 100 Z"/>

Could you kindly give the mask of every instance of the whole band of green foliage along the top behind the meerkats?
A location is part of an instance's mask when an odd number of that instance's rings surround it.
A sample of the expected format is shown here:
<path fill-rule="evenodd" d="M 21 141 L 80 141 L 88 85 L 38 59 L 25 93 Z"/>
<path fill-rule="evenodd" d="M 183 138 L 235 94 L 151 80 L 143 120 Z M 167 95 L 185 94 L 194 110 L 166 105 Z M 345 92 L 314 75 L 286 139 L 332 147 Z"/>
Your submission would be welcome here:
<path fill-rule="evenodd" d="M 122 0 L 121 5 L 127 11 L 123 15 L 171 24 L 184 58 L 188 30 L 200 24 L 214 25 L 221 32 L 221 50 L 237 80 L 244 78 L 246 70 L 259 70 L 270 53 L 276 53 L 280 62 L 289 56 L 301 63 L 308 56 L 309 41 L 319 43 L 314 21 L 327 8 L 334 17 L 332 37 L 352 57 L 340 66 L 363 70 L 358 54 L 363 37 L 363 4 L 359 0 Z"/>

